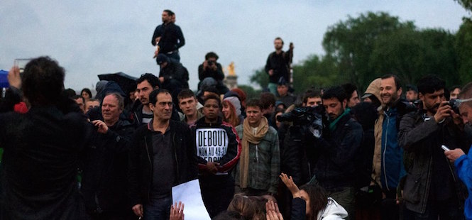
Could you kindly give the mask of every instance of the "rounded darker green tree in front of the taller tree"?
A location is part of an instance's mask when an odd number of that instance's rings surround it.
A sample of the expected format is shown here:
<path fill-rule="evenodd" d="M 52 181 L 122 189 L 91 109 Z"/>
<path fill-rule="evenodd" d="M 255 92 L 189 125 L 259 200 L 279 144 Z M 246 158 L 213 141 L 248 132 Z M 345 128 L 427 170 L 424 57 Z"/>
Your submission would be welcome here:
<path fill-rule="evenodd" d="M 457 75 L 454 35 L 439 29 L 402 29 L 375 40 L 369 69 L 393 73 L 404 84 L 415 84 L 424 75 L 435 74 L 449 85 L 460 81 Z"/>

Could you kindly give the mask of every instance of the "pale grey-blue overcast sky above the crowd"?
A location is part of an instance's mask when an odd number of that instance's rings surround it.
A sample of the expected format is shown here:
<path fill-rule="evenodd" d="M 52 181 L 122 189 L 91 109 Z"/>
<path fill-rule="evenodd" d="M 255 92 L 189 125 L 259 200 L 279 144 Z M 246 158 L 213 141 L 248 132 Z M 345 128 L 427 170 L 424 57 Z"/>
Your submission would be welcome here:
<path fill-rule="evenodd" d="M 265 65 L 280 36 L 295 45 L 294 62 L 322 55 L 329 26 L 366 11 L 385 11 L 419 28 L 443 28 L 455 33 L 463 16 L 453 0 L 383 1 L 124 1 L 124 0 L 3 0 L 0 6 L 0 69 L 15 58 L 49 55 L 65 67 L 65 87 L 80 90 L 97 83 L 97 75 L 125 72 L 139 77 L 158 75 L 150 44 L 160 14 L 177 15 L 185 46 L 182 64 L 196 89 L 197 67 L 214 51 L 226 67 L 234 62 L 239 84 L 248 84 L 254 70 Z"/>

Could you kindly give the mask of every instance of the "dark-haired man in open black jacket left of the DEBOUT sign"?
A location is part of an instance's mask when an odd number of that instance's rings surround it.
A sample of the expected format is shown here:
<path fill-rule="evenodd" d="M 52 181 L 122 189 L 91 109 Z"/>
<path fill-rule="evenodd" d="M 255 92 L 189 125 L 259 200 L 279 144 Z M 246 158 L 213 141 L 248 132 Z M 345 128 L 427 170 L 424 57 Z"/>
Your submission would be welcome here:
<path fill-rule="evenodd" d="M 190 128 L 171 121 L 172 97 L 151 92 L 153 120 L 131 140 L 128 181 L 133 211 L 144 219 L 168 219 L 172 187 L 197 178 L 197 155 Z"/>

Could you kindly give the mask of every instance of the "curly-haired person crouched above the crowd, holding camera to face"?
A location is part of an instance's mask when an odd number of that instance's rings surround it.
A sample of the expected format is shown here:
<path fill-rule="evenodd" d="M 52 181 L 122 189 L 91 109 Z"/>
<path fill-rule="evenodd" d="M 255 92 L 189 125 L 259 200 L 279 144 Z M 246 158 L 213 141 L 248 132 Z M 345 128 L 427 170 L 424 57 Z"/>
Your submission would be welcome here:
<path fill-rule="evenodd" d="M 198 79 L 200 79 L 200 82 L 208 77 L 214 79 L 219 94 L 225 94 L 229 89 L 223 84 L 224 73 L 221 64 L 216 62 L 218 58 L 218 55 L 214 52 L 209 52 L 205 55 L 205 61 L 198 66 Z M 201 89 L 200 86 L 199 89 Z"/>

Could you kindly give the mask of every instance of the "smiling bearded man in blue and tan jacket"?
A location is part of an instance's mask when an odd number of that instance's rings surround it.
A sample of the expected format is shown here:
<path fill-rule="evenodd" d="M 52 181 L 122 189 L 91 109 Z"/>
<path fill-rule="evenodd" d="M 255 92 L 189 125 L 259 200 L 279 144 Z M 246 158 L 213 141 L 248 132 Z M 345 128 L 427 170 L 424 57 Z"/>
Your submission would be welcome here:
<path fill-rule="evenodd" d="M 373 180 L 382 187 L 384 202 L 381 213 L 383 219 L 399 219 L 396 204 L 397 185 L 405 175 L 403 149 L 397 141 L 401 117 L 415 106 L 400 99 L 402 85 L 395 75 L 380 78 L 380 101 L 383 109 L 379 111 L 374 126 L 375 148 L 373 155 Z"/>

